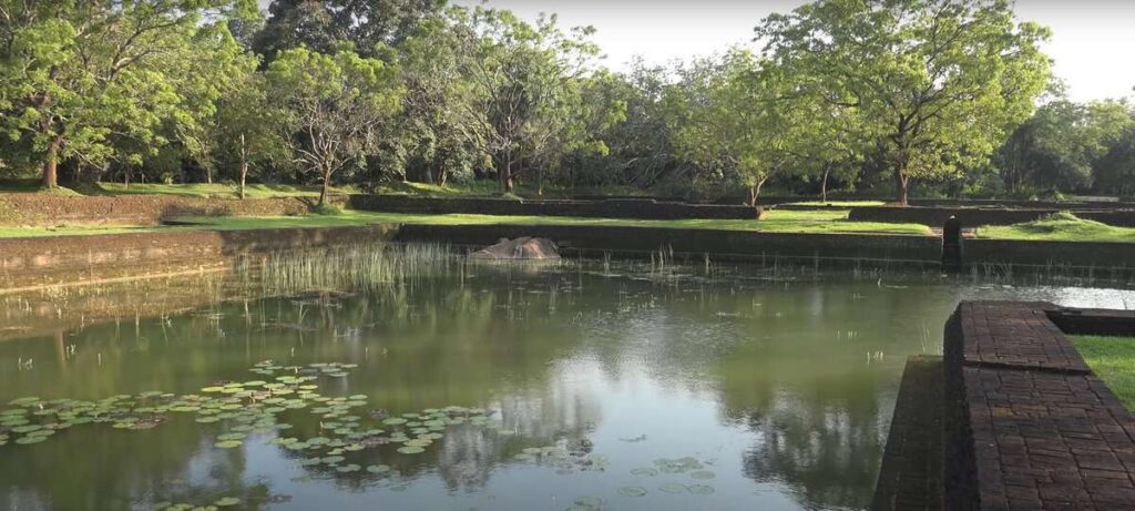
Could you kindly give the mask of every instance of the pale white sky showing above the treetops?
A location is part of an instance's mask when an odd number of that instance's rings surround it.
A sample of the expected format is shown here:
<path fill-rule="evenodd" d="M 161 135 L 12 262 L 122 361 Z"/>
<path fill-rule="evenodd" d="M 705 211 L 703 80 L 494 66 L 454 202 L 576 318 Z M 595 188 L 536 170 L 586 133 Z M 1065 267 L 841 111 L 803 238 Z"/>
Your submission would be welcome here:
<path fill-rule="evenodd" d="M 451 0 L 478 5 L 480 0 Z M 633 56 L 664 64 L 748 43 L 753 27 L 771 12 L 802 0 L 488 0 L 535 20 L 557 12 L 565 26 L 592 25 L 607 56 L 622 68 Z M 1075 100 L 1119 98 L 1135 86 L 1135 0 L 1017 0 L 1022 19 L 1052 28 L 1045 51 Z"/>

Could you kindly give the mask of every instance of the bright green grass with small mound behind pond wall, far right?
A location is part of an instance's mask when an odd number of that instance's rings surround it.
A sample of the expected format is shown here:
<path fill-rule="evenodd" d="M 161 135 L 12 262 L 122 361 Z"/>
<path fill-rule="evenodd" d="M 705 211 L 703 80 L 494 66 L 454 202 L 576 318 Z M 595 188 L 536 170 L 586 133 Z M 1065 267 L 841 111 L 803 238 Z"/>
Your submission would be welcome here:
<path fill-rule="evenodd" d="M 1113 227 L 1068 212 L 1024 224 L 983 226 L 977 228 L 976 235 L 998 240 L 1135 243 L 1135 228 Z"/>

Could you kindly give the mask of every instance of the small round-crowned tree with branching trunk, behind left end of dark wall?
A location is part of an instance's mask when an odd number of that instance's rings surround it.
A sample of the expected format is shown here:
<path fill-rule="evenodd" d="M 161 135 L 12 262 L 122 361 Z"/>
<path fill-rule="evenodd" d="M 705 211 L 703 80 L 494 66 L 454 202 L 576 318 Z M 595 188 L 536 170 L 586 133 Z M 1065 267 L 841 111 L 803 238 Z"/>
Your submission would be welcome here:
<path fill-rule="evenodd" d="M 335 173 L 362 167 L 379 128 L 397 112 L 397 69 L 352 51 L 297 48 L 277 56 L 267 77 L 274 100 L 286 108 L 281 125 L 293 137 L 295 162 L 321 177 L 323 206 Z"/>

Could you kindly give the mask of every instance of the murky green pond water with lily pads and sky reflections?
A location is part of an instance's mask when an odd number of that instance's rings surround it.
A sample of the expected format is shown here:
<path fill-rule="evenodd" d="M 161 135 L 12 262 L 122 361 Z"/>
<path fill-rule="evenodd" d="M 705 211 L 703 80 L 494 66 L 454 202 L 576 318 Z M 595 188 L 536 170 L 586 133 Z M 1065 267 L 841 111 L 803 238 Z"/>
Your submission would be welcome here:
<path fill-rule="evenodd" d="M 865 509 L 905 359 L 941 352 L 959 300 L 1135 303 L 936 275 L 443 267 L 0 342 L 0 509 Z"/>

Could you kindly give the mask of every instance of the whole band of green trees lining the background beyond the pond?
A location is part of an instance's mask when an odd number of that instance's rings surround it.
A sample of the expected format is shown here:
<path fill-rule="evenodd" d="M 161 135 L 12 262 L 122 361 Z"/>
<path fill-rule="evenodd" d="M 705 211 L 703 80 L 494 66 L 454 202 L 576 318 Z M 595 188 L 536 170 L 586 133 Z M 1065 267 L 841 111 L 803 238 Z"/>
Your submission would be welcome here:
<path fill-rule="evenodd" d="M 1062 99 L 1003 0 L 754 24 L 616 73 L 590 27 L 440 0 L 0 0 L 0 177 L 1135 194 L 1132 109 Z"/>

